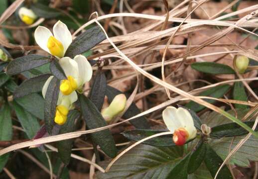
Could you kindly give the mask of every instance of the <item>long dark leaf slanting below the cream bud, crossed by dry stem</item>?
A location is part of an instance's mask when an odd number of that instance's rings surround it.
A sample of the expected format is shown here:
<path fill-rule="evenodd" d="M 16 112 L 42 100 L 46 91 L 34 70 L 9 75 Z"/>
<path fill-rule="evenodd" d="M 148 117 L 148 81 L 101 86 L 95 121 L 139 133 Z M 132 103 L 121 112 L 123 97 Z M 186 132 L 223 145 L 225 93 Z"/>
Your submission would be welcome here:
<path fill-rule="evenodd" d="M 92 101 L 83 94 L 79 96 L 81 103 L 81 111 L 86 125 L 89 129 L 96 129 L 99 127 L 107 126 L 105 119 L 94 105 Z M 114 158 L 117 155 L 117 148 L 115 141 L 109 129 L 105 129 L 99 132 L 91 133 L 94 141 L 100 146 L 100 148 L 109 157 Z"/>

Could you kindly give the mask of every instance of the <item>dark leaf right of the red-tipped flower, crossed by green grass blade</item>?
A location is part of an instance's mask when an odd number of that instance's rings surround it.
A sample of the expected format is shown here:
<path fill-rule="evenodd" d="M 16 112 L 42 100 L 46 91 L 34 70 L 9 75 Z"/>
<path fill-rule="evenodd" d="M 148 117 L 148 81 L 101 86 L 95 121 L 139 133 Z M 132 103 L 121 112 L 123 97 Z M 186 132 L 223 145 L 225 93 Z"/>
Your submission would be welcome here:
<path fill-rule="evenodd" d="M 253 127 L 254 121 L 244 122 L 249 127 Z M 258 131 L 258 127 L 256 127 L 256 131 Z M 222 138 L 222 137 L 235 137 L 248 134 L 248 131 L 243 127 L 239 126 L 236 123 L 227 123 L 218 125 L 212 128 L 212 132 L 210 134 L 213 138 Z"/>

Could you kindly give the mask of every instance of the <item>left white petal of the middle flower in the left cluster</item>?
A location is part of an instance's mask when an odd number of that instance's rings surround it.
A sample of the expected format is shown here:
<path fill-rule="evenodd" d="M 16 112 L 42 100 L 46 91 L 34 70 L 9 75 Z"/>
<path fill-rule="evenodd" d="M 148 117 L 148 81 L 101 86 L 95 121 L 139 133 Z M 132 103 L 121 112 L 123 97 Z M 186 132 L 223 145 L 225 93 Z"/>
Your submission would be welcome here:
<path fill-rule="evenodd" d="M 69 57 L 63 57 L 59 60 L 59 64 L 64 70 L 66 77 L 72 76 L 74 79 L 78 79 L 79 69 L 75 60 Z"/>

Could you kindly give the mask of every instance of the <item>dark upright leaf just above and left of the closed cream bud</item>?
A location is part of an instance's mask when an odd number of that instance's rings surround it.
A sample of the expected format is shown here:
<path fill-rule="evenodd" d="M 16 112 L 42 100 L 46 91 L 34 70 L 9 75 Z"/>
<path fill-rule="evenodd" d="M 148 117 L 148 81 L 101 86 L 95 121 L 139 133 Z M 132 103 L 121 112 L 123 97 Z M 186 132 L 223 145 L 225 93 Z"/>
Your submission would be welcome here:
<path fill-rule="evenodd" d="M 98 72 L 91 88 L 89 98 L 95 106 L 101 111 L 107 89 L 107 79 L 103 72 Z"/>

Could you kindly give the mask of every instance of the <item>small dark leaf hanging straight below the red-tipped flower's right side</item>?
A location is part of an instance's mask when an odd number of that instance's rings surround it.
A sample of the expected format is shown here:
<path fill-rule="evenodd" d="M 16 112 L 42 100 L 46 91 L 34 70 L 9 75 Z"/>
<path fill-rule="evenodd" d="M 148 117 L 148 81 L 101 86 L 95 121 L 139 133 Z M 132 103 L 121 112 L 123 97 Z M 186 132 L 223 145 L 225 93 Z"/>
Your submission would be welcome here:
<path fill-rule="evenodd" d="M 206 154 L 206 145 L 200 141 L 196 148 L 190 154 L 190 159 L 187 167 L 187 173 L 194 173 L 202 164 L 204 156 Z"/>

